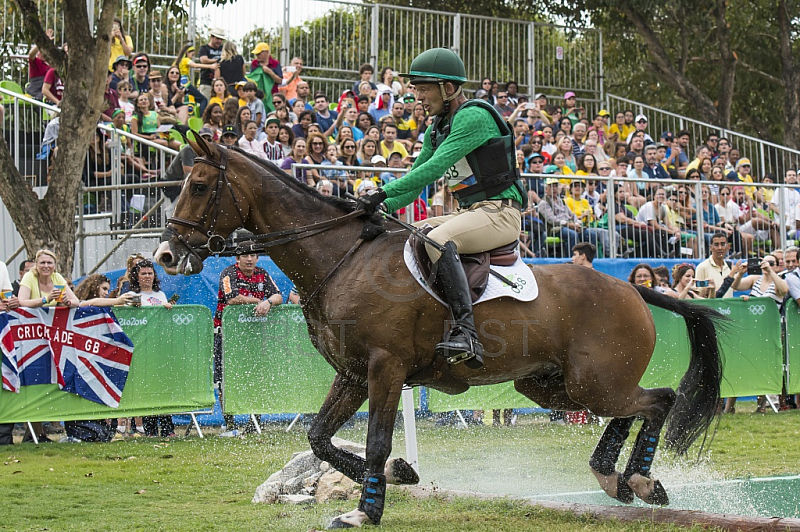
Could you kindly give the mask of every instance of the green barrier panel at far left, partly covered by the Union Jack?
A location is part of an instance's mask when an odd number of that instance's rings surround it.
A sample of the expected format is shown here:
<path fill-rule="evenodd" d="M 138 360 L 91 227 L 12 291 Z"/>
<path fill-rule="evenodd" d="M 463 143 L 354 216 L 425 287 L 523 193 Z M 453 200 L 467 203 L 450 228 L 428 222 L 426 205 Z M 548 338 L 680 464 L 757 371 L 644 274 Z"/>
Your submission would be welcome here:
<path fill-rule="evenodd" d="M 132 417 L 206 410 L 211 383 L 211 313 L 200 305 L 114 309 L 134 351 L 119 408 L 62 392 L 56 384 L 0 391 L 0 422 Z"/>

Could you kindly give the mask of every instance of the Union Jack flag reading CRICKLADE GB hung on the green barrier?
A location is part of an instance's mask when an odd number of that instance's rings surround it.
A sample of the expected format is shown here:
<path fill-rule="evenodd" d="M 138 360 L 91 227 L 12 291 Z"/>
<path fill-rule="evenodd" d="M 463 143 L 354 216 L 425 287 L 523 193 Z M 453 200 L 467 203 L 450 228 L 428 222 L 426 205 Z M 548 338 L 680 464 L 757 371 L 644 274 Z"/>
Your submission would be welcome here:
<path fill-rule="evenodd" d="M 0 314 L 3 388 L 55 384 L 118 407 L 133 342 L 106 308 L 19 308 Z"/>

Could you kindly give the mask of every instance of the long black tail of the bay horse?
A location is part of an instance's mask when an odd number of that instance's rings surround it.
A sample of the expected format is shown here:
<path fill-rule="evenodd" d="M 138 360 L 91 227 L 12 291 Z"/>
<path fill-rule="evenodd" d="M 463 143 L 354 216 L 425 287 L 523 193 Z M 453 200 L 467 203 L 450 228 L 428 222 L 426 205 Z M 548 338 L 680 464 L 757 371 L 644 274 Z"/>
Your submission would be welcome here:
<path fill-rule="evenodd" d="M 716 310 L 675 299 L 643 286 L 636 286 L 645 303 L 670 310 L 686 321 L 691 358 L 678 386 L 678 397 L 669 413 L 668 448 L 685 454 L 711 424 L 720 400 L 722 355 L 717 344 L 717 325 L 726 318 Z"/>

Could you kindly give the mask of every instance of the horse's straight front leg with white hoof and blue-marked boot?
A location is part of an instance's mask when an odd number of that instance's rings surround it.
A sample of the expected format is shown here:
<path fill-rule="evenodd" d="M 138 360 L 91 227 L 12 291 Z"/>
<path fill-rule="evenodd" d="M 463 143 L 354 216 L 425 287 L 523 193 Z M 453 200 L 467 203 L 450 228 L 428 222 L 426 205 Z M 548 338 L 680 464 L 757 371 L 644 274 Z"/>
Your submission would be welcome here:
<path fill-rule="evenodd" d="M 407 377 L 397 358 L 383 349 L 370 351 L 369 429 L 367 430 L 367 469 L 358 509 L 338 516 L 329 528 L 354 528 L 364 523 L 378 525 L 386 499 L 384 468 L 392 452 L 392 432 L 397 405 Z"/>

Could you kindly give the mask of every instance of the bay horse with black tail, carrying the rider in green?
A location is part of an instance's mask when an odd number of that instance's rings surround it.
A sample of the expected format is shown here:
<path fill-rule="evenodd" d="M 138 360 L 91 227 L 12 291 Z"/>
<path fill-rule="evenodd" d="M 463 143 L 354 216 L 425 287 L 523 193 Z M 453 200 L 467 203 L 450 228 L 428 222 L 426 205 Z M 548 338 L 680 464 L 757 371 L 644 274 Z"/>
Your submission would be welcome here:
<path fill-rule="evenodd" d="M 653 458 L 665 423 L 666 443 L 684 454 L 714 417 L 722 376 L 718 313 L 588 268 L 532 266 L 537 299 L 499 298 L 475 307 L 485 367 L 450 366 L 434 355 L 449 312 L 404 265 L 406 231 L 385 225 L 381 230 L 390 230 L 364 240 L 365 229 L 386 222 L 356 211 L 355 202 L 322 196 L 238 148 L 200 137 L 190 144 L 198 157 L 155 258 L 170 274 L 198 273 L 203 260 L 244 227 L 270 246 L 270 257 L 294 281 L 311 341 L 337 373 L 309 443 L 317 457 L 363 484 L 358 508 L 337 516 L 331 528 L 379 524 L 386 483 L 419 482 L 408 463 L 388 460 L 404 385 L 455 394 L 513 380 L 517 391 L 544 408 L 612 418 L 589 461 L 601 487 L 625 503 L 634 495 L 668 503 L 651 478 Z M 677 394 L 639 386 L 656 342 L 648 303 L 686 322 L 691 360 Z M 366 459 L 331 441 L 365 400 Z M 644 422 L 627 467 L 617 471 L 637 417 Z"/>

